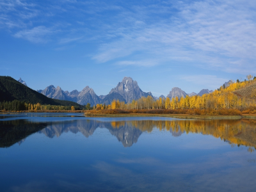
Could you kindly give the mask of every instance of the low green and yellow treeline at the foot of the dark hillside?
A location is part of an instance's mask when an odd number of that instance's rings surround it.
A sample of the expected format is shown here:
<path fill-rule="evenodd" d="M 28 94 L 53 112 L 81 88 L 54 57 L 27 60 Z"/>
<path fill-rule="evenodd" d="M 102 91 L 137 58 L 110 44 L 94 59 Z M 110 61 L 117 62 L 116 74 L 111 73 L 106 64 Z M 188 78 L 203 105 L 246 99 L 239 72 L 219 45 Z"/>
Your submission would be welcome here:
<path fill-rule="evenodd" d="M 50 110 L 81 110 L 79 106 L 53 106 L 53 105 L 41 105 L 30 104 L 19 100 L 0 102 L 1 111 L 50 111 Z"/>

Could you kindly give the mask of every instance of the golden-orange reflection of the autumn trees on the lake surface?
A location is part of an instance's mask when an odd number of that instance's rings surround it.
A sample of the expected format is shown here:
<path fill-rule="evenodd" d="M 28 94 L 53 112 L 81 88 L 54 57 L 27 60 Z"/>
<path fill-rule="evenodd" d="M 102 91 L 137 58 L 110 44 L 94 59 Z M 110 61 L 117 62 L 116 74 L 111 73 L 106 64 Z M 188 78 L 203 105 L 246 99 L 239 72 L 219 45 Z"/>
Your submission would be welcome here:
<path fill-rule="evenodd" d="M 129 126 L 141 131 L 152 132 L 154 128 L 160 131 L 170 131 L 172 134 L 205 134 L 234 145 L 244 145 L 252 152 L 256 147 L 256 120 L 132 120 L 113 121 L 113 129 Z M 253 148 L 252 148 L 253 147 Z"/>

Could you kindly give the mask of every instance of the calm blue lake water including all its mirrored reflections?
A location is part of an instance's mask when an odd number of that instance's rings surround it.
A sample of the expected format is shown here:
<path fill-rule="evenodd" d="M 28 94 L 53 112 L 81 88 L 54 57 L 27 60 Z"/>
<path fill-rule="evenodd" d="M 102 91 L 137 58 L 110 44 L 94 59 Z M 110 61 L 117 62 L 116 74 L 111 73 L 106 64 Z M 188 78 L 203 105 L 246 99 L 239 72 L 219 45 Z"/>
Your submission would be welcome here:
<path fill-rule="evenodd" d="M 256 120 L 0 116 L 0 191 L 255 191 Z"/>

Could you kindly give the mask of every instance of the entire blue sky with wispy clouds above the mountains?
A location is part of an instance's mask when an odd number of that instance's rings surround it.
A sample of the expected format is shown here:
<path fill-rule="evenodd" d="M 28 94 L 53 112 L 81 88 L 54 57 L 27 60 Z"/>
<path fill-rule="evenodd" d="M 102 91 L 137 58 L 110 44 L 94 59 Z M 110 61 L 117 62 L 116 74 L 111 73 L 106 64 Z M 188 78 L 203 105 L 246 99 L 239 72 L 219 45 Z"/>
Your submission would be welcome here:
<path fill-rule="evenodd" d="M 30 88 L 216 89 L 256 76 L 256 1 L 0 0 L 0 75 Z"/>

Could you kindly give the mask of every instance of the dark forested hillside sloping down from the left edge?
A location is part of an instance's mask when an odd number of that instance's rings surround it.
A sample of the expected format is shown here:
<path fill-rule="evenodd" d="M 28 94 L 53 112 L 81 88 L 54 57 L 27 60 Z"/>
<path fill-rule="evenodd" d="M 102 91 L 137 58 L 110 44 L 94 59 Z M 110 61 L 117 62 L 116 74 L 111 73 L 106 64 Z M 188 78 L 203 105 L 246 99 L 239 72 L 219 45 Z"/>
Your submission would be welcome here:
<path fill-rule="evenodd" d="M 0 76 L 0 102 L 20 100 L 31 104 L 50 104 L 55 106 L 79 106 L 76 102 L 51 99 L 19 83 L 12 77 Z"/>

